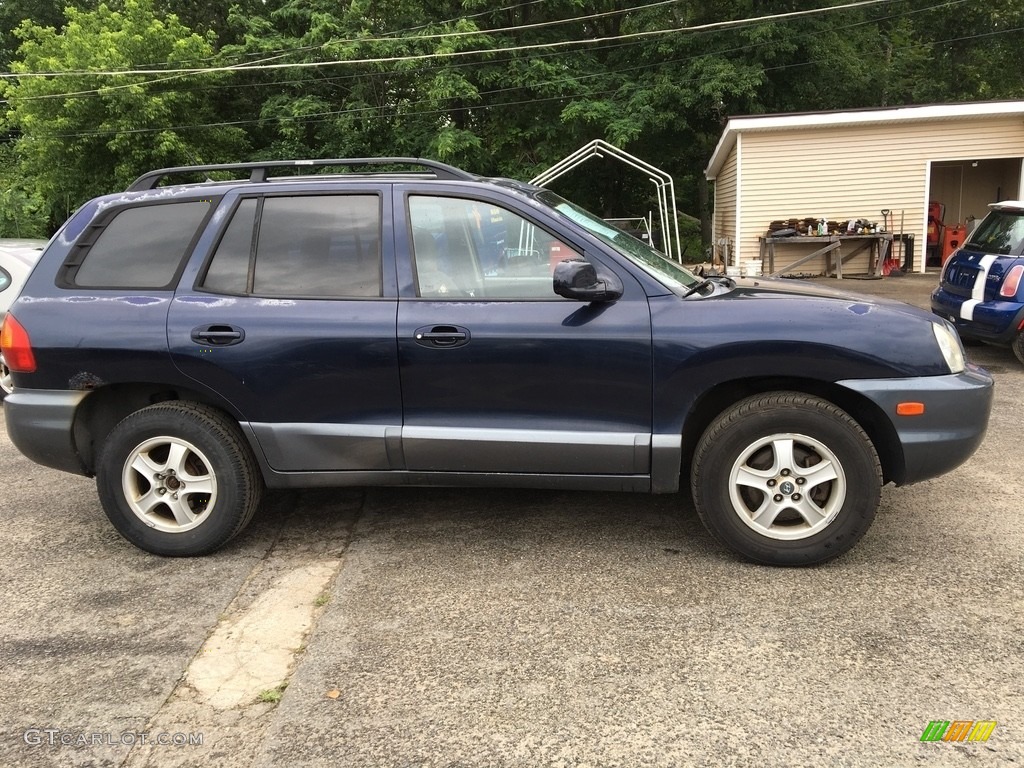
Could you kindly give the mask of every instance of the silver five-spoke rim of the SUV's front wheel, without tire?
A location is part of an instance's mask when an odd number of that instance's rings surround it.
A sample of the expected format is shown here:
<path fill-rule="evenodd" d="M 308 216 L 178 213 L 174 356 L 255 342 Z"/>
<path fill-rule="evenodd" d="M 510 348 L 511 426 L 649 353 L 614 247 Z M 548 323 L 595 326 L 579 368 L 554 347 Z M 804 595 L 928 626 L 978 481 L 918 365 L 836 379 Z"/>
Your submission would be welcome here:
<path fill-rule="evenodd" d="M 773 434 L 748 445 L 729 472 L 729 500 L 744 524 L 769 539 L 807 539 L 843 508 L 843 465 L 822 442 Z"/>

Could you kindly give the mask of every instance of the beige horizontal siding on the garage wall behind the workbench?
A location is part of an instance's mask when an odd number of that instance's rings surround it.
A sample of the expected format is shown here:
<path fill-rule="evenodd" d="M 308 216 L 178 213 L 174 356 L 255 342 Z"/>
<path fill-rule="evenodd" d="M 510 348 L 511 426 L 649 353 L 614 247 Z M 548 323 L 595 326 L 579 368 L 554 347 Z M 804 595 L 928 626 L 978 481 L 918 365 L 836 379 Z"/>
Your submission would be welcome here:
<path fill-rule="evenodd" d="M 902 214 L 904 231 L 914 233 L 921 263 L 929 162 L 1021 156 L 1024 123 L 1017 118 L 744 132 L 735 258 L 757 257 L 758 238 L 775 219 L 867 218 L 881 224 L 881 211 L 888 208 L 895 228 Z M 864 266 L 866 260 L 846 268 Z M 799 270 L 820 268 L 808 263 Z"/>

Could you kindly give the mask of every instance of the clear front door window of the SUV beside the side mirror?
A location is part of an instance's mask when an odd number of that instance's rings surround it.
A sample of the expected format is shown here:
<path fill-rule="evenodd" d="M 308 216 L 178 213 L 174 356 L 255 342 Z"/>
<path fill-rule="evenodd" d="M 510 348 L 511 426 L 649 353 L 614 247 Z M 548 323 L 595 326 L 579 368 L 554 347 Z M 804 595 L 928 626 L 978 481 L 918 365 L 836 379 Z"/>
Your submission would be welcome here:
<path fill-rule="evenodd" d="M 409 199 L 419 295 L 440 299 L 559 299 L 554 265 L 582 258 L 505 208 L 478 200 Z"/>

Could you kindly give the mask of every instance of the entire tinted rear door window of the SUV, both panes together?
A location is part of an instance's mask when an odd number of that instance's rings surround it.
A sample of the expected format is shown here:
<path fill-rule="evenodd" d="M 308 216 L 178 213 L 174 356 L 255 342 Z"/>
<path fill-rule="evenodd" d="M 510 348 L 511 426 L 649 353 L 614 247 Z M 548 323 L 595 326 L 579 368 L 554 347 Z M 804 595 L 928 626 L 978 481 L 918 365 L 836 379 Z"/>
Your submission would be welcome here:
<path fill-rule="evenodd" d="M 201 287 L 257 296 L 378 297 L 380 207 L 376 195 L 243 200 Z"/>

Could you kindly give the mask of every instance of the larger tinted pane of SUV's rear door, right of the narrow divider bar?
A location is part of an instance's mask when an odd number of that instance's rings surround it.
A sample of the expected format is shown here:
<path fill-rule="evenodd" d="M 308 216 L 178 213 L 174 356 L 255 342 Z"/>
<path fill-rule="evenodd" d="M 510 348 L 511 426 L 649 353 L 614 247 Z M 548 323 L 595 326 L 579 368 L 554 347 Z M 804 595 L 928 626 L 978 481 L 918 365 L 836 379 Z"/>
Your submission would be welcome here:
<path fill-rule="evenodd" d="M 265 199 L 252 292 L 261 296 L 380 296 L 377 196 Z"/>

